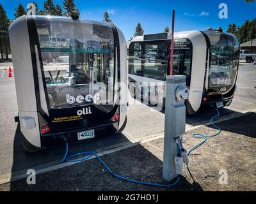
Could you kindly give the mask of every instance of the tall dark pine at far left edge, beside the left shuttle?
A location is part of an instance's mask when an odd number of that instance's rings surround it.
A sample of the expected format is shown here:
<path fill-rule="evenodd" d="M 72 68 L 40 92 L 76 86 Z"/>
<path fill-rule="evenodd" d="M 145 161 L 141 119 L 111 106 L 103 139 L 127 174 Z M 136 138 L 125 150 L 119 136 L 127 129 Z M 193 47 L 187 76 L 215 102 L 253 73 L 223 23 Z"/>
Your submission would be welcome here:
<path fill-rule="evenodd" d="M 8 59 L 8 53 L 10 53 L 10 42 L 8 27 L 10 25 L 10 19 L 6 15 L 3 6 L 0 4 L 0 52 L 1 59 L 3 59 L 6 54 L 6 59 Z"/>

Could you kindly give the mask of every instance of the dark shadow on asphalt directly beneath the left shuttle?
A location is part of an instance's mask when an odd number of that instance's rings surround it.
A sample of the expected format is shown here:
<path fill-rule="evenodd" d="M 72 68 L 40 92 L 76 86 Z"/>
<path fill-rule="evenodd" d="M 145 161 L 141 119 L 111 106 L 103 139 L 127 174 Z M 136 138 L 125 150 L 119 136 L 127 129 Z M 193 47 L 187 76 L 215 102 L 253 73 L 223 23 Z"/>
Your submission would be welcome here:
<path fill-rule="evenodd" d="M 122 134 L 99 136 L 81 143 L 72 144 L 69 146 L 70 154 L 83 152 L 86 150 L 104 149 L 116 143 L 128 142 L 129 140 Z M 59 164 L 66 151 L 65 143 L 56 147 L 44 149 L 39 152 L 28 153 L 24 152 L 20 140 L 20 125 L 17 125 L 13 140 L 13 164 L 12 176 L 26 173 L 29 168 L 47 168 L 54 164 Z"/>

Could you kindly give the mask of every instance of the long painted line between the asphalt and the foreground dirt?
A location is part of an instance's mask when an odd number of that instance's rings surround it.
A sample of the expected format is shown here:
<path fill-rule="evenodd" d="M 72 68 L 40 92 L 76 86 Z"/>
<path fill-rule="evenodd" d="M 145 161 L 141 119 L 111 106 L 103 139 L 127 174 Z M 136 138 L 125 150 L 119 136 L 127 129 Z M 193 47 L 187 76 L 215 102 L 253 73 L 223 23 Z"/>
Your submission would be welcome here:
<path fill-rule="evenodd" d="M 214 120 L 214 123 L 234 119 L 236 117 L 241 117 L 243 115 L 248 115 L 252 112 L 256 112 L 256 108 L 252 108 L 252 109 L 249 109 L 249 110 L 244 110 L 244 111 L 241 111 L 241 112 L 232 113 L 230 115 L 220 117 L 218 120 Z M 204 126 L 209 126 L 210 124 L 211 124 L 211 122 L 209 122 L 209 120 L 207 120 L 207 122 L 205 122 L 204 124 L 198 124 L 198 126 L 191 127 L 191 128 L 186 128 L 186 131 L 190 131 L 190 130 L 197 129 L 197 128 L 202 128 Z M 125 135 L 125 131 L 124 131 L 124 135 Z M 141 143 L 148 143 L 148 142 L 163 138 L 164 133 L 162 132 L 162 133 L 158 133 L 157 135 L 154 134 L 154 135 L 149 135 L 149 136 L 143 136 L 140 139 L 138 139 L 138 138 L 135 139 L 131 135 L 125 135 L 125 136 L 127 136 L 127 138 L 131 138 L 133 142 L 132 141 L 122 142 L 122 143 L 118 143 L 118 144 L 115 144 L 115 145 L 110 145 L 108 147 L 104 147 L 103 149 L 97 149 L 95 151 L 97 152 L 97 154 L 99 156 L 104 156 L 106 154 L 111 154 L 111 153 L 117 152 L 119 150 L 124 150 L 124 149 L 130 148 L 130 147 L 134 147 L 134 146 L 139 145 Z M 95 156 L 91 157 L 90 159 L 93 159 L 94 157 Z M 41 173 L 47 173 L 49 171 L 54 171 L 54 170 L 58 170 L 60 168 L 71 166 L 73 164 L 80 163 L 82 161 L 56 164 L 58 162 L 60 162 L 60 160 L 52 161 L 51 163 L 46 163 L 46 164 L 42 164 L 40 166 L 31 167 L 31 168 L 36 170 L 36 175 L 39 175 Z M 10 173 L 4 173 L 4 174 L 0 175 L 0 184 L 13 182 L 15 180 L 20 180 L 20 179 L 26 179 L 28 177 L 28 175 L 26 174 L 27 170 L 28 169 L 24 169 L 24 170 L 10 172 Z"/>

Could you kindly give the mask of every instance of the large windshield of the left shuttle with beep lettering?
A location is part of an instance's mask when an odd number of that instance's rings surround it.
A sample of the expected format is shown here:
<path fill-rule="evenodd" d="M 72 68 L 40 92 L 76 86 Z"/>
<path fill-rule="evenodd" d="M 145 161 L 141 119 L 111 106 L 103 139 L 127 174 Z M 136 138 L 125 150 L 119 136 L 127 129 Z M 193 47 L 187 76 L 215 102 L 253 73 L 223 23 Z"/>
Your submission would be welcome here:
<path fill-rule="evenodd" d="M 111 25 L 83 22 L 82 27 L 81 23 L 36 20 L 36 28 L 51 108 L 92 105 L 99 99 L 113 104 L 115 45 Z"/>

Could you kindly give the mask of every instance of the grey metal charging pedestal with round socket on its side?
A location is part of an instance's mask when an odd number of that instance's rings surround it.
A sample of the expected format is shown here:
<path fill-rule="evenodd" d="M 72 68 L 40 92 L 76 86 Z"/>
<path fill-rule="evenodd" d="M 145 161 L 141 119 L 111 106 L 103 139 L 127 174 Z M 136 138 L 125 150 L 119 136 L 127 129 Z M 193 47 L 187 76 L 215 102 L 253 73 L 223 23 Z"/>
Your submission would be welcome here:
<path fill-rule="evenodd" d="M 185 133 L 186 106 L 184 99 L 188 99 L 188 94 L 186 76 L 166 76 L 163 179 L 168 182 L 177 177 L 176 139 Z"/>

